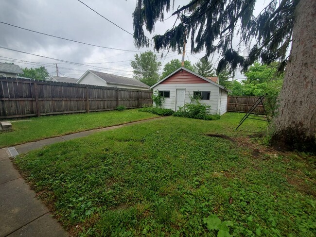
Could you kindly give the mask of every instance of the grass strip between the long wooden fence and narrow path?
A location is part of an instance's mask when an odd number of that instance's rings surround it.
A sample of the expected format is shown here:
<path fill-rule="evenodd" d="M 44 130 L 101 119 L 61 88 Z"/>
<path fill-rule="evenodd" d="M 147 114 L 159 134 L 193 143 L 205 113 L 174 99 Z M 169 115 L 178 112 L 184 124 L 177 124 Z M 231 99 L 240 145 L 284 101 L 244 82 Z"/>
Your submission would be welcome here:
<path fill-rule="evenodd" d="M 12 132 L 0 133 L 0 148 L 155 117 L 137 109 L 35 117 L 32 121 L 13 122 Z"/>

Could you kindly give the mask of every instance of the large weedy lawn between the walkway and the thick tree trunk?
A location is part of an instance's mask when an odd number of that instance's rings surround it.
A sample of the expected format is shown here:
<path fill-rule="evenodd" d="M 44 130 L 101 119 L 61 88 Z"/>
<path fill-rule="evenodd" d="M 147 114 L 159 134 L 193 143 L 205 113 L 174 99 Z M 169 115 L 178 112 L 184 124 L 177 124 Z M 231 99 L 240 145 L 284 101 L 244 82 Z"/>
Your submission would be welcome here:
<path fill-rule="evenodd" d="M 74 236 L 315 236 L 316 157 L 249 138 L 263 121 L 234 131 L 242 116 L 168 117 L 15 163 Z"/>

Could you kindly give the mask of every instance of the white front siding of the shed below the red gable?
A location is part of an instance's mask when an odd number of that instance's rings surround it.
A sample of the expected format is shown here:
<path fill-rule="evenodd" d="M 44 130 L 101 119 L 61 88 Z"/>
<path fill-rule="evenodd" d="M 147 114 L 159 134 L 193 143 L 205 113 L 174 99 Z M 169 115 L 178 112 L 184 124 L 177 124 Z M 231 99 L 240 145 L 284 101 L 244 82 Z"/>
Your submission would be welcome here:
<path fill-rule="evenodd" d="M 162 104 L 162 108 L 176 109 L 176 89 L 185 89 L 185 103 L 190 103 L 189 95 L 193 96 L 193 91 L 210 91 L 210 100 L 202 100 L 201 103 L 211 105 L 211 114 L 218 113 L 218 94 L 219 87 L 210 84 L 158 84 L 153 90 L 169 90 L 170 98 L 165 98 L 165 102 Z"/>

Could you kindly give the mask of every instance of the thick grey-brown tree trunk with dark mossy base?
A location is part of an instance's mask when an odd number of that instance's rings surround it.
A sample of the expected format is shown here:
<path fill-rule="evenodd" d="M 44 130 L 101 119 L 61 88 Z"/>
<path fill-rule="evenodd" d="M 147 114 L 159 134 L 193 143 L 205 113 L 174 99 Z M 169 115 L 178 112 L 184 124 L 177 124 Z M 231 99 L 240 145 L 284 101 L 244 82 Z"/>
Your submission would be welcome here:
<path fill-rule="evenodd" d="M 272 145 L 316 152 L 316 0 L 300 0 Z"/>

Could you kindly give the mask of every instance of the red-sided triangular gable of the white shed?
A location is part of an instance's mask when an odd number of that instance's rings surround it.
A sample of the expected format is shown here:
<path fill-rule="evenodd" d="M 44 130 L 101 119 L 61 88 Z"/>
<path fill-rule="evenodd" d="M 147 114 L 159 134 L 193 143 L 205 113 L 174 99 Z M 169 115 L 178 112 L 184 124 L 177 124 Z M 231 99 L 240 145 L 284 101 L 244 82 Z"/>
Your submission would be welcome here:
<path fill-rule="evenodd" d="M 180 70 L 176 72 L 171 77 L 167 78 L 160 84 L 202 84 L 202 83 L 209 83 L 202 78 L 195 76 L 194 74 L 186 71 Z"/>

